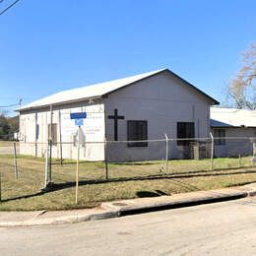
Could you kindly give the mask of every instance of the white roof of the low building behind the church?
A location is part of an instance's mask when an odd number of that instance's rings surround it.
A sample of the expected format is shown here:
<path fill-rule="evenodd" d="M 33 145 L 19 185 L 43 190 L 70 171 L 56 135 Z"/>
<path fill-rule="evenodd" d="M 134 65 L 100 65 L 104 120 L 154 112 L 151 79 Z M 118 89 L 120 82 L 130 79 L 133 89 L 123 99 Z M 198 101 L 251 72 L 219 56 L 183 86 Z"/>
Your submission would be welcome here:
<path fill-rule="evenodd" d="M 256 110 L 211 107 L 212 127 L 256 127 Z"/>

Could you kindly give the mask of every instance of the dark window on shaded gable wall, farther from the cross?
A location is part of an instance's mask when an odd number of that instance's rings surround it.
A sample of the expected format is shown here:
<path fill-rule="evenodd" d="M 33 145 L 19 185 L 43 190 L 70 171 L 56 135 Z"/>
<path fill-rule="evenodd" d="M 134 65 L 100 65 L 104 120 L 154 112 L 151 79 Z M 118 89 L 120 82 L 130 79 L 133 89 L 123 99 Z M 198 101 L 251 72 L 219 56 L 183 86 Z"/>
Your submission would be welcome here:
<path fill-rule="evenodd" d="M 195 124 L 193 122 L 177 123 L 177 139 L 186 139 L 195 137 Z M 177 141 L 177 145 L 189 145 L 191 140 Z"/>

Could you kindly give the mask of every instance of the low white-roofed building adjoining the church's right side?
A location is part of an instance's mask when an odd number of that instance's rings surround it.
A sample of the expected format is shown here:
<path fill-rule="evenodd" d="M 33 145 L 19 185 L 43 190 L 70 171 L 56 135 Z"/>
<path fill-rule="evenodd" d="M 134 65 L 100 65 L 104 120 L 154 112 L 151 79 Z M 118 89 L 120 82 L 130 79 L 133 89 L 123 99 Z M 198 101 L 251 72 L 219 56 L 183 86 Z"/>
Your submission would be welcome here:
<path fill-rule="evenodd" d="M 216 157 L 252 155 L 256 137 L 256 111 L 211 107 L 211 130 L 217 138 Z"/>

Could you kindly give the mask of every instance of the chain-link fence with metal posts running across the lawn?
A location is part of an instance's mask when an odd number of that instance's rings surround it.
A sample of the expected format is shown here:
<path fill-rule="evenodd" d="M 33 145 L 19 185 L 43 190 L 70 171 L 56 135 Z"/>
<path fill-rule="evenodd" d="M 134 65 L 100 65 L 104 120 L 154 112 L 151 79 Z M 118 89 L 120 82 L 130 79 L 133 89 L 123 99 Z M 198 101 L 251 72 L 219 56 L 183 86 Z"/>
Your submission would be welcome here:
<path fill-rule="evenodd" d="M 98 152 L 99 160 L 87 160 L 90 151 L 95 159 Z M 256 138 L 247 137 L 165 137 L 85 142 L 80 147 L 74 142 L 51 145 L 0 141 L 0 198 L 5 202 L 39 195 L 47 189 L 160 175 L 184 177 L 233 169 L 246 172 L 255 167 L 255 157 Z"/>

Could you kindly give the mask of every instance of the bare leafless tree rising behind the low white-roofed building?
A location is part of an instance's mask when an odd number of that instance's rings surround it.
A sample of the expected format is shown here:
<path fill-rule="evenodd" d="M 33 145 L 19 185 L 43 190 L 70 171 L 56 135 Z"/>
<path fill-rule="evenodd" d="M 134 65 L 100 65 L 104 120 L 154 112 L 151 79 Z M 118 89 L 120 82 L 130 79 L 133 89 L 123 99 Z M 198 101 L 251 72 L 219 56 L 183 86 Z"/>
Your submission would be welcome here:
<path fill-rule="evenodd" d="M 242 53 L 242 63 L 227 86 L 227 95 L 237 108 L 256 109 L 256 42 Z"/>

